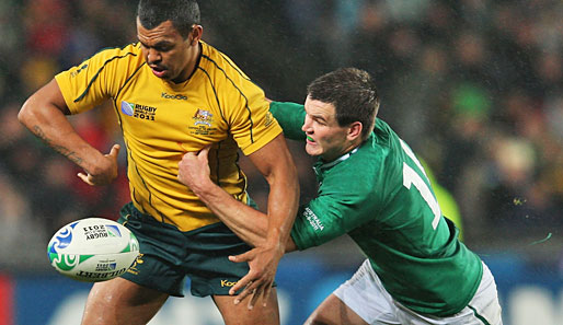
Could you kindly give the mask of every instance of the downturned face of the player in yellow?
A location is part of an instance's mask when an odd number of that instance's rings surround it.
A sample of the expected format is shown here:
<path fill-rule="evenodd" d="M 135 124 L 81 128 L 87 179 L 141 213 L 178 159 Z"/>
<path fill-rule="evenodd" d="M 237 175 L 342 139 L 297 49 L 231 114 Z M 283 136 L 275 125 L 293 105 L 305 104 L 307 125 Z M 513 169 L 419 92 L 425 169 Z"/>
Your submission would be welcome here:
<path fill-rule="evenodd" d="M 137 37 L 147 65 L 158 78 L 175 83 L 186 81 L 195 69 L 202 31 L 202 26 L 195 25 L 183 38 L 170 21 L 147 30 L 137 18 Z"/>

